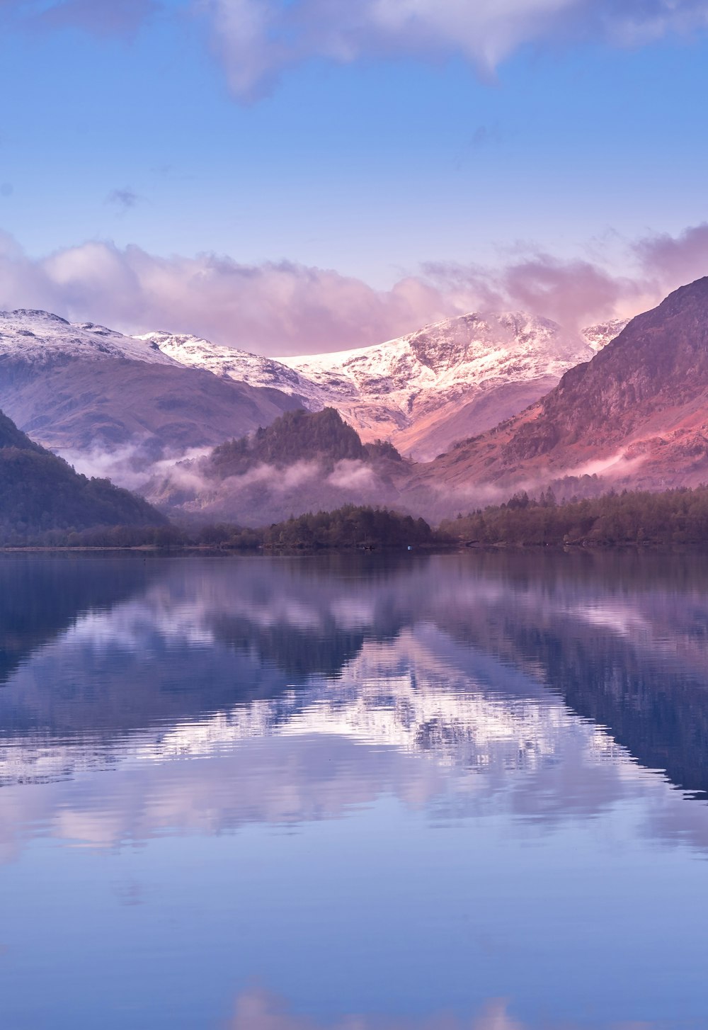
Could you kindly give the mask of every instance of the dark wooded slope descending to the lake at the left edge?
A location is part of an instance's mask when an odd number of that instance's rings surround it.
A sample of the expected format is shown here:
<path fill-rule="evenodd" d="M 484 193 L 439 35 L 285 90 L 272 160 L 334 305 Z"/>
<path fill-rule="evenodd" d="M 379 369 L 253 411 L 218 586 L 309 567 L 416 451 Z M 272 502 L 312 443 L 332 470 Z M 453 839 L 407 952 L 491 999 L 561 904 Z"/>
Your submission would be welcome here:
<path fill-rule="evenodd" d="M 50 529 L 166 522 L 142 497 L 106 479 L 78 475 L 0 412 L 0 539 Z"/>

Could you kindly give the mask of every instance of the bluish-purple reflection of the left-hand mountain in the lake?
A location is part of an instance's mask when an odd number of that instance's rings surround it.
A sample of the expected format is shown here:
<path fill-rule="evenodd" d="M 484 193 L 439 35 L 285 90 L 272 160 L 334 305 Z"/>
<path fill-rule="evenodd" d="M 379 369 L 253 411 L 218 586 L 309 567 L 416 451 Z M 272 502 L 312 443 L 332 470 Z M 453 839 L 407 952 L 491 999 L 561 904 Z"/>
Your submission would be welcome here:
<path fill-rule="evenodd" d="M 63 596 L 61 572 L 47 580 L 41 563 L 28 562 L 4 621 L 8 639 L 16 631 L 25 642 L 21 657 L 35 651 L 31 671 L 0 694 L 0 726 L 24 737 L 90 734 L 107 745 L 127 732 L 275 698 L 314 677 L 335 678 L 366 639 L 395 637 L 411 620 L 408 604 L 397 610 L 395 577 L 382 578 L 379 568 L 374 590 L 364 583 L 343 594 L 337 570 L 352 566 L 337 559 L 314 568 L 285 559 L 157 559 L 145 565 L 149 579 L 142 561 L 99 560 L 85 582 L 81 566 L 69 570 Z M 143 589 L 101 610 L 92 600 L 102 596 L 94 575 L 121 583 L 123 566 L 142 572 Z M 85 615 L 43 646 L 52 633 L 40 613 L 55 604 L 58 612 L 68 609 L 64 622 L 58 615 L 57 629 L 69 626 L 74 595 L 79 604 L 85 596 Z M 116 590 L 111 599 L 121 596 Z M 33 619 L 42 631 L 31 631 Z"/>

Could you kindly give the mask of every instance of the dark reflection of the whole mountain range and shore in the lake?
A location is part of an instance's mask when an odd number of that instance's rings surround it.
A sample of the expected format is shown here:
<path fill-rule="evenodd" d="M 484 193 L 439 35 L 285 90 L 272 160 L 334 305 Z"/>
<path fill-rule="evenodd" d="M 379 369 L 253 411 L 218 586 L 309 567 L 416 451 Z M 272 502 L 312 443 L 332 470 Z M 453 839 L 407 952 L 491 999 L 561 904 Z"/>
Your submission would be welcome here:
<path fill-rule="evenodd" d="M 86 747 L 164 756 L 326 732 L 526 768 L 559 750 L 560 695 L 643 765 L 708 789 L 706 563 L 612 562 L 7 559 L 10 764 L 41 777 Z"/>

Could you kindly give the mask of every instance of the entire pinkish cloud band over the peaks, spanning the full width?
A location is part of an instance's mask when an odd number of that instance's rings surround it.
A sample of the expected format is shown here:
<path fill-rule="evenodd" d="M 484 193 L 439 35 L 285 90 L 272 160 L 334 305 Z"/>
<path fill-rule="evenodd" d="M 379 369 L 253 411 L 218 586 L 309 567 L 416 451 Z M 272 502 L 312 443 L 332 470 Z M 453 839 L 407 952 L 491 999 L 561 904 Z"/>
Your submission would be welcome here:
<path fill-rule="evenodd" d="M 33 259 L 0 233 L 0 307 L 43 308 L 128 333 L 193 333 L 274 355 L 378 344 L 468 311 L 526 310 L 576 330 L 636 314 L 705 275 L 708 224 L 628 244 L 625 267 L 615 275 L 597 261 L 520 249 L 496 268 L 431 263 L 377 289 L 295 262 L 163 258 L 102 241 Z"/>

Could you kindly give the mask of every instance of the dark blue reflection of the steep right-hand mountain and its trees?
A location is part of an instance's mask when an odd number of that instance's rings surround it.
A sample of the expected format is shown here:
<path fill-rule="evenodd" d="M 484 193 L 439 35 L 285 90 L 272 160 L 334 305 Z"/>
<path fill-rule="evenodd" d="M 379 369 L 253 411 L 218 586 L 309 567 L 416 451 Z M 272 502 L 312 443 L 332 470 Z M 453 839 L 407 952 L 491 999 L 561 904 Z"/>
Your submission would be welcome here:
<path fill-rule="evenodd" d="M 448 628 L 539 679 L 642 765 L 708 791 L 706 556 L 519 557 L 487 556 L 486 572 L 504 583 L 499 602 L 451 616 Z M 603 605 L 604 624 L 583 617 Z M 636 618 L 634 630 L 612 625 L 614 605 Z"/>

